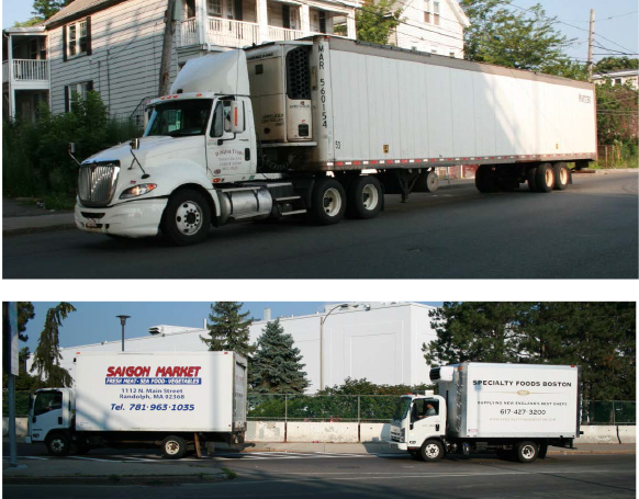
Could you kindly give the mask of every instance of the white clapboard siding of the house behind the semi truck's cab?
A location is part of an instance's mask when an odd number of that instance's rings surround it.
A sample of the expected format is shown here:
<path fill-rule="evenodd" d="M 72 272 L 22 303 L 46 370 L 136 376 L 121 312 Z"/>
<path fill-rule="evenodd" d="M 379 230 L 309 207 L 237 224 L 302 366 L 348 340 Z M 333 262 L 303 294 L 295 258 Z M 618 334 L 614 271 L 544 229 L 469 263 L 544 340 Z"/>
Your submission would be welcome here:
<path fill-rule="evenodd" d="M 65 111 L 65 86 L 93 81 L 112 116 L 126 118 L 139 101 L 156 95 L 165 0 L 130 0 L 91 14 L 91 50 L 64 60 L 63 30 L 48 32 L 52 110 Z M 175 53 L 175 50 L 173 50 Z M 171 60 L 171 80 L 176 73 Z"/>

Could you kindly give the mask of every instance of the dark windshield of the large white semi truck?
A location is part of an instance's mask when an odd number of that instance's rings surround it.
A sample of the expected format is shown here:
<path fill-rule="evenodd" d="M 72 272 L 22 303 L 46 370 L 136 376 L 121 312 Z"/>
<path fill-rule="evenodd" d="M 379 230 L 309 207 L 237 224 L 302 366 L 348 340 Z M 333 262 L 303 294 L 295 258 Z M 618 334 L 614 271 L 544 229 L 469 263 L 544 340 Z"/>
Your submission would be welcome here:
<path fill-rule="evenodd" d="M 211 99 L 172 101 L 157 104 L 144 136 L 184 137 L 204 135 L 211 112 Z"/>

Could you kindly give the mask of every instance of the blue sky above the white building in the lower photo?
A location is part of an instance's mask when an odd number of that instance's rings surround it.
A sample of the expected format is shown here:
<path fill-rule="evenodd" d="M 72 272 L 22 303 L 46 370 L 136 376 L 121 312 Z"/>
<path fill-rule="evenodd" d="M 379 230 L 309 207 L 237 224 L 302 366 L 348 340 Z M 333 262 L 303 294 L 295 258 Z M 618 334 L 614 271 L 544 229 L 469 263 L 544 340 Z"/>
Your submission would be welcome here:
<path fill-rule="evenodd" d="M 283 316 L 304 316 L 324 311 L 324 306 L 339 302 L 246 302 L 244 311 L 250 311 L 256 320 L 264 318 L 264 309 L 271 309 L 271 318 Z M 440 303 L 423 302 L 427 305 Z M 44 326 L 46 313 L 58 303 L 33 302 L 35 317 L 26 324 L 26 343 L 20 342 L 20 348 L 29 347 L 33 352 Z M 131 316 L 124 327 L 126 338 L 148 334 L 152 326 L 186 326 L 203 327 L 204 319 L 211 311 L 211 302 L 74 302 L 76 311 L 63 321 L 59 331 L 60 347 L 77 347 L 81 344 L 115 341 L 122 338 L 122 326 L 119 315 Z"/>

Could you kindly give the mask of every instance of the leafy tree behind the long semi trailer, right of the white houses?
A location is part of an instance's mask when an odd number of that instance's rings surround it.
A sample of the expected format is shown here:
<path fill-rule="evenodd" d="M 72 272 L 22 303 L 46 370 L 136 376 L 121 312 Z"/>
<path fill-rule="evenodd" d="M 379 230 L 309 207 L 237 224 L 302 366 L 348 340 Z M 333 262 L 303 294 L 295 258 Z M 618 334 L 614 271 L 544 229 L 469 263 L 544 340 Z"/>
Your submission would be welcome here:
<path fill-rule="evenodd" d="M 461 0 L 470 20 L 464 30 L 467 59 L 500 66 L 543 71 L 568 60 L 563 50 L 573 41 L 553 26 L 540 4 L 514 10 L 511 0 Z"/>

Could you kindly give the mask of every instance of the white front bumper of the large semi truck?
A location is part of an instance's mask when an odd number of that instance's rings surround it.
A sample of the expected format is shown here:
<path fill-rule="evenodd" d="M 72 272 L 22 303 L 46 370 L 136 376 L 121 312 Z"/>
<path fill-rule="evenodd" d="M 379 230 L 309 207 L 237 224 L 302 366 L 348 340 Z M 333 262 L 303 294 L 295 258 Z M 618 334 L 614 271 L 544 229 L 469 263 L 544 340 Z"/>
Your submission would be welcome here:
<path fill-rule="evenodd" d="M 112 234 L 123 237 L 157 236 L 166 197 L 135 200 L 103 208 L 76 204 L 76 227 L 88 233 Z"/>

